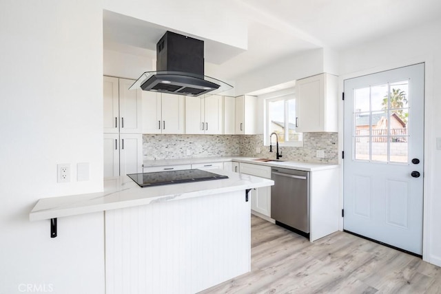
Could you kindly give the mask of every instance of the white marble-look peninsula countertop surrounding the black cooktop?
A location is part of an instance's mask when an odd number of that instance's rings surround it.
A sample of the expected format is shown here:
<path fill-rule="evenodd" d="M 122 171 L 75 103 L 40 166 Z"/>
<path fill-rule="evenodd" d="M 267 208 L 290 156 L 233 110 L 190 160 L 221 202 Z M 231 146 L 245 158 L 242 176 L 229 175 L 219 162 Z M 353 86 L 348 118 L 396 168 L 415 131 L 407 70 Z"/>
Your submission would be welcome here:
<path fill-rule="evenodd" d="M 269 179 L 221 169 L 212 169 L 210 172 L 229 178 L 145 188 L 139 187 L 127 176 L 107 178 L 102 192 L 40 199 L 29 213 L 29 219 L 34 221 L 76 216 L 274 185 L 274 181 Z"/>

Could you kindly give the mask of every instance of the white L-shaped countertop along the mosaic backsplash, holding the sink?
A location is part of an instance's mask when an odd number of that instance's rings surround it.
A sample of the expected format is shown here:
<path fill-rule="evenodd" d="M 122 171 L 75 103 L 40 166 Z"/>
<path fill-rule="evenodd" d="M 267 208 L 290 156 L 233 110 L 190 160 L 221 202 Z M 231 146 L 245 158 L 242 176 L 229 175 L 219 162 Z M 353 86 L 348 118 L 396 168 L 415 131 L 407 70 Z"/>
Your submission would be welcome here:
<path fill-rule="evenodd" d="M 278 161 L 278 162 L 260 162 L 255 161 L 256 157 L 244 156 L 218 156 L 218 157 L 203 157 L 203 158 L 179 158 L 179 159 L 165 159 L 165 160 L 145 160 L 144 167 L 158 167 L 165 165 L 192 165 L 196 163 L 206 162 L 226 162 L 236 161 L 252 163 L 254 165 L 266 165 L 268 167 L 284 167 L 286 169 L 298 169 L 300 171 L 320 171 L 323 169 L 336 169 L 339 165 L 329 165 L 325 163 L 308 163 L 299 161 Z"/>

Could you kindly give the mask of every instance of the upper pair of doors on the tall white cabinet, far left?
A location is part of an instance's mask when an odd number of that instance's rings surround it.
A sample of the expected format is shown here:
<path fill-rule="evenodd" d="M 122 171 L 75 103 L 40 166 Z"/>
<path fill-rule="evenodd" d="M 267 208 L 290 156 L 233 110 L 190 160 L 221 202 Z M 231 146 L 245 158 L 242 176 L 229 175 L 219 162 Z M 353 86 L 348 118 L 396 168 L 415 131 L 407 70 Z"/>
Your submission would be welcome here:
<path fill-rule="evenodd" d="M 128 90 L 132 83 L 125 78 L 103 77 L 105 133 L 141 133 L 141 90 Z"/>

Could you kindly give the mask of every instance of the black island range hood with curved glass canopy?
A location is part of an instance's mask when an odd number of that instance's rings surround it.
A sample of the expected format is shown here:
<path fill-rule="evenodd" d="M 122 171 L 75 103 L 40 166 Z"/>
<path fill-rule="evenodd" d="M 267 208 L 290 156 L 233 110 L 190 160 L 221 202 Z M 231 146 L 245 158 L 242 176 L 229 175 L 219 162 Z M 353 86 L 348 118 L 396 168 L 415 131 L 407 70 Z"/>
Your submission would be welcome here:
<path fill-rule="evenodd" d="M 130 87 L 144 91 L 199 96 L 232 88 L 204 76 L 204 41 L 167 31 L 156 44 L 156 72 L 144 72 Z"/>

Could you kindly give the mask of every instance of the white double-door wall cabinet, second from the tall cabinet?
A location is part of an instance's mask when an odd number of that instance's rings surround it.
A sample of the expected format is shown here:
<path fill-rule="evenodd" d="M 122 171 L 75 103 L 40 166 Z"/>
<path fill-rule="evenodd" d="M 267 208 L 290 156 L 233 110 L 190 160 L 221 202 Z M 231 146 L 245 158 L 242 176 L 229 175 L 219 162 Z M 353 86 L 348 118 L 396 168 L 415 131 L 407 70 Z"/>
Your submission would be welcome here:
<path fill-rule="evenodd" d="M 185 134 L 222 134 L 223 97 L 185 97 Z"/>

